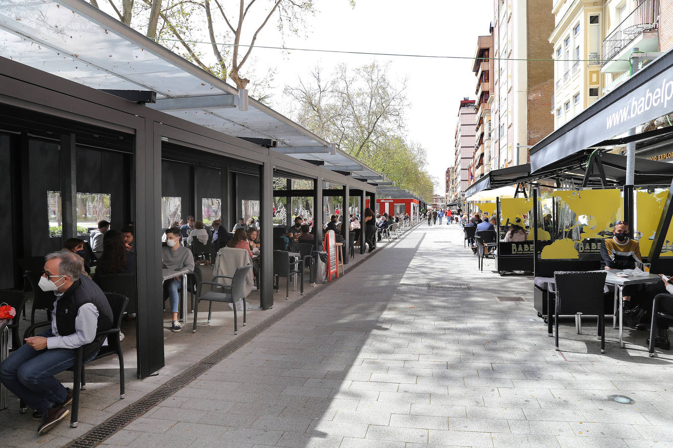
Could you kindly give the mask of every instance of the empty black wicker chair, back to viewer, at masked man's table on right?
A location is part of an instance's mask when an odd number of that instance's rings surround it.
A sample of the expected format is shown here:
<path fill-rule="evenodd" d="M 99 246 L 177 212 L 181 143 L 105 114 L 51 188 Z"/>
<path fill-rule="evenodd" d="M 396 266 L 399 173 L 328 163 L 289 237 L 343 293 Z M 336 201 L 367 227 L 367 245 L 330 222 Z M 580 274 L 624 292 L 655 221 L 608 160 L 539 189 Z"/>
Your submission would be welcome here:
<path fill-rule="evenodd" d="M 605 353 L 605 277 L 606 271 L 554 273 L 554 327 L 555 345 L 559 350 L 559 316 L 586 314 L 598 316 L 600 353 Z M 551 298 L 548 299 L 551 314 Z"/>

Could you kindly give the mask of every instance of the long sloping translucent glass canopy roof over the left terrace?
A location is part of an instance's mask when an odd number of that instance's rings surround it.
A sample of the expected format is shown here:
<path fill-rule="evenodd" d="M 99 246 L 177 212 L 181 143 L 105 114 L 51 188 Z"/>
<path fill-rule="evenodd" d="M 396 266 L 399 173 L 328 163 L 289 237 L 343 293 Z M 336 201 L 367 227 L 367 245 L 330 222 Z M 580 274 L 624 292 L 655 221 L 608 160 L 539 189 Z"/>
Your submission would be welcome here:
<path fill-rule="evenodd" d="M 236 137 L 275 140 L 275 150 L 322 161 L 353 177 L 385 176 L 273 109 L 82 0 L 0 0 L 0 56 L 94 89 L 151 90 L 166 114 Z M 390 187 L 388 187 L 390 188 Z"/>

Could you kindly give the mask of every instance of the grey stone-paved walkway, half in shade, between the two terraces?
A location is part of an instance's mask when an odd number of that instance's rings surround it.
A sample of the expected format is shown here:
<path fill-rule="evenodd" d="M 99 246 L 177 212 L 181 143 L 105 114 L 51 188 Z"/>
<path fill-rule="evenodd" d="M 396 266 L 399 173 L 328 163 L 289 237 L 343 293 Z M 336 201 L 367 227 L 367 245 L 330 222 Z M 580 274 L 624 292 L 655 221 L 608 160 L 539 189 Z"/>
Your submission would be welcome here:
<path fill-rule="evenodd" d="M 532 279 L 492 267 L 476 270 L 456 226 L 421 225 L 105 443 L 673 446 L 668 353 L 647 357 L 645 333 L 628 330 L 619 349 L 610 326 L 601 355 L 588 320 L 581 335 L 563 323 L 557 353 Z M 472 289 L 427 289 L 450 282 Z"/>

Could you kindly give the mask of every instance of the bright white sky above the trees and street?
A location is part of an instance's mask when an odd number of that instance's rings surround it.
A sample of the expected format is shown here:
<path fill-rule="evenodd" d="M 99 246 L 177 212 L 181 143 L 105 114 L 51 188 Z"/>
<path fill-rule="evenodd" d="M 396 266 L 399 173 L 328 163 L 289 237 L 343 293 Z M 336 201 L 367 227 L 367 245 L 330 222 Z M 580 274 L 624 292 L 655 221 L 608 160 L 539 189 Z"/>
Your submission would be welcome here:
<path fill-rule="evenodd" d="M 351 9 L 347 0 L 316 0 L 320 10 L 309 19 L 308 38 L 286 38 L 287 47 L 355 50 L 366 52 L 441 54 L 474 56 L 477 36 L 489 33 L 493 0 L 357 0 Z M 274 28 L 258 38 L 258 44 L 277 46 Z M 324 73 L 341 62 L 358 66 L 374 56 L 316 54 L 278 50 L 254 50 L 257 64 L 269 62 L 277 67 L 277 89 L 273 107 L 287 113 L 282 103 L 285 84 L 295 84 L 320 62 Z M 476 77 L 471 60 L 391 58 L 390 73 L 396 79 L 409 78 L 406 114 L 409 139 L 427 148 L 429 172 L 441 185 L 435 193 L 444 194 L 444 173 L 453 164 L 454 132 L 458 101 L 474 99 Z"/>

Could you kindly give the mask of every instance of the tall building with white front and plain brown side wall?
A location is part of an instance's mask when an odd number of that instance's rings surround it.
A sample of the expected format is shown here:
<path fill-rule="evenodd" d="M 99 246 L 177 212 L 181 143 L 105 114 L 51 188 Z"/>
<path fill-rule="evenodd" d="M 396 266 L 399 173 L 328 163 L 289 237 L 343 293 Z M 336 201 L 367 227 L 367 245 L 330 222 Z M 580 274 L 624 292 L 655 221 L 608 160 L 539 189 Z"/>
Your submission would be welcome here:
<path fill-rule="evenodd" d="M 528 146 L 554 130 L 549 114 L 554 64 L 548 42 L 554 28 L 552 0 L 494 0 L 493 168 L 526 163 Z"/>

